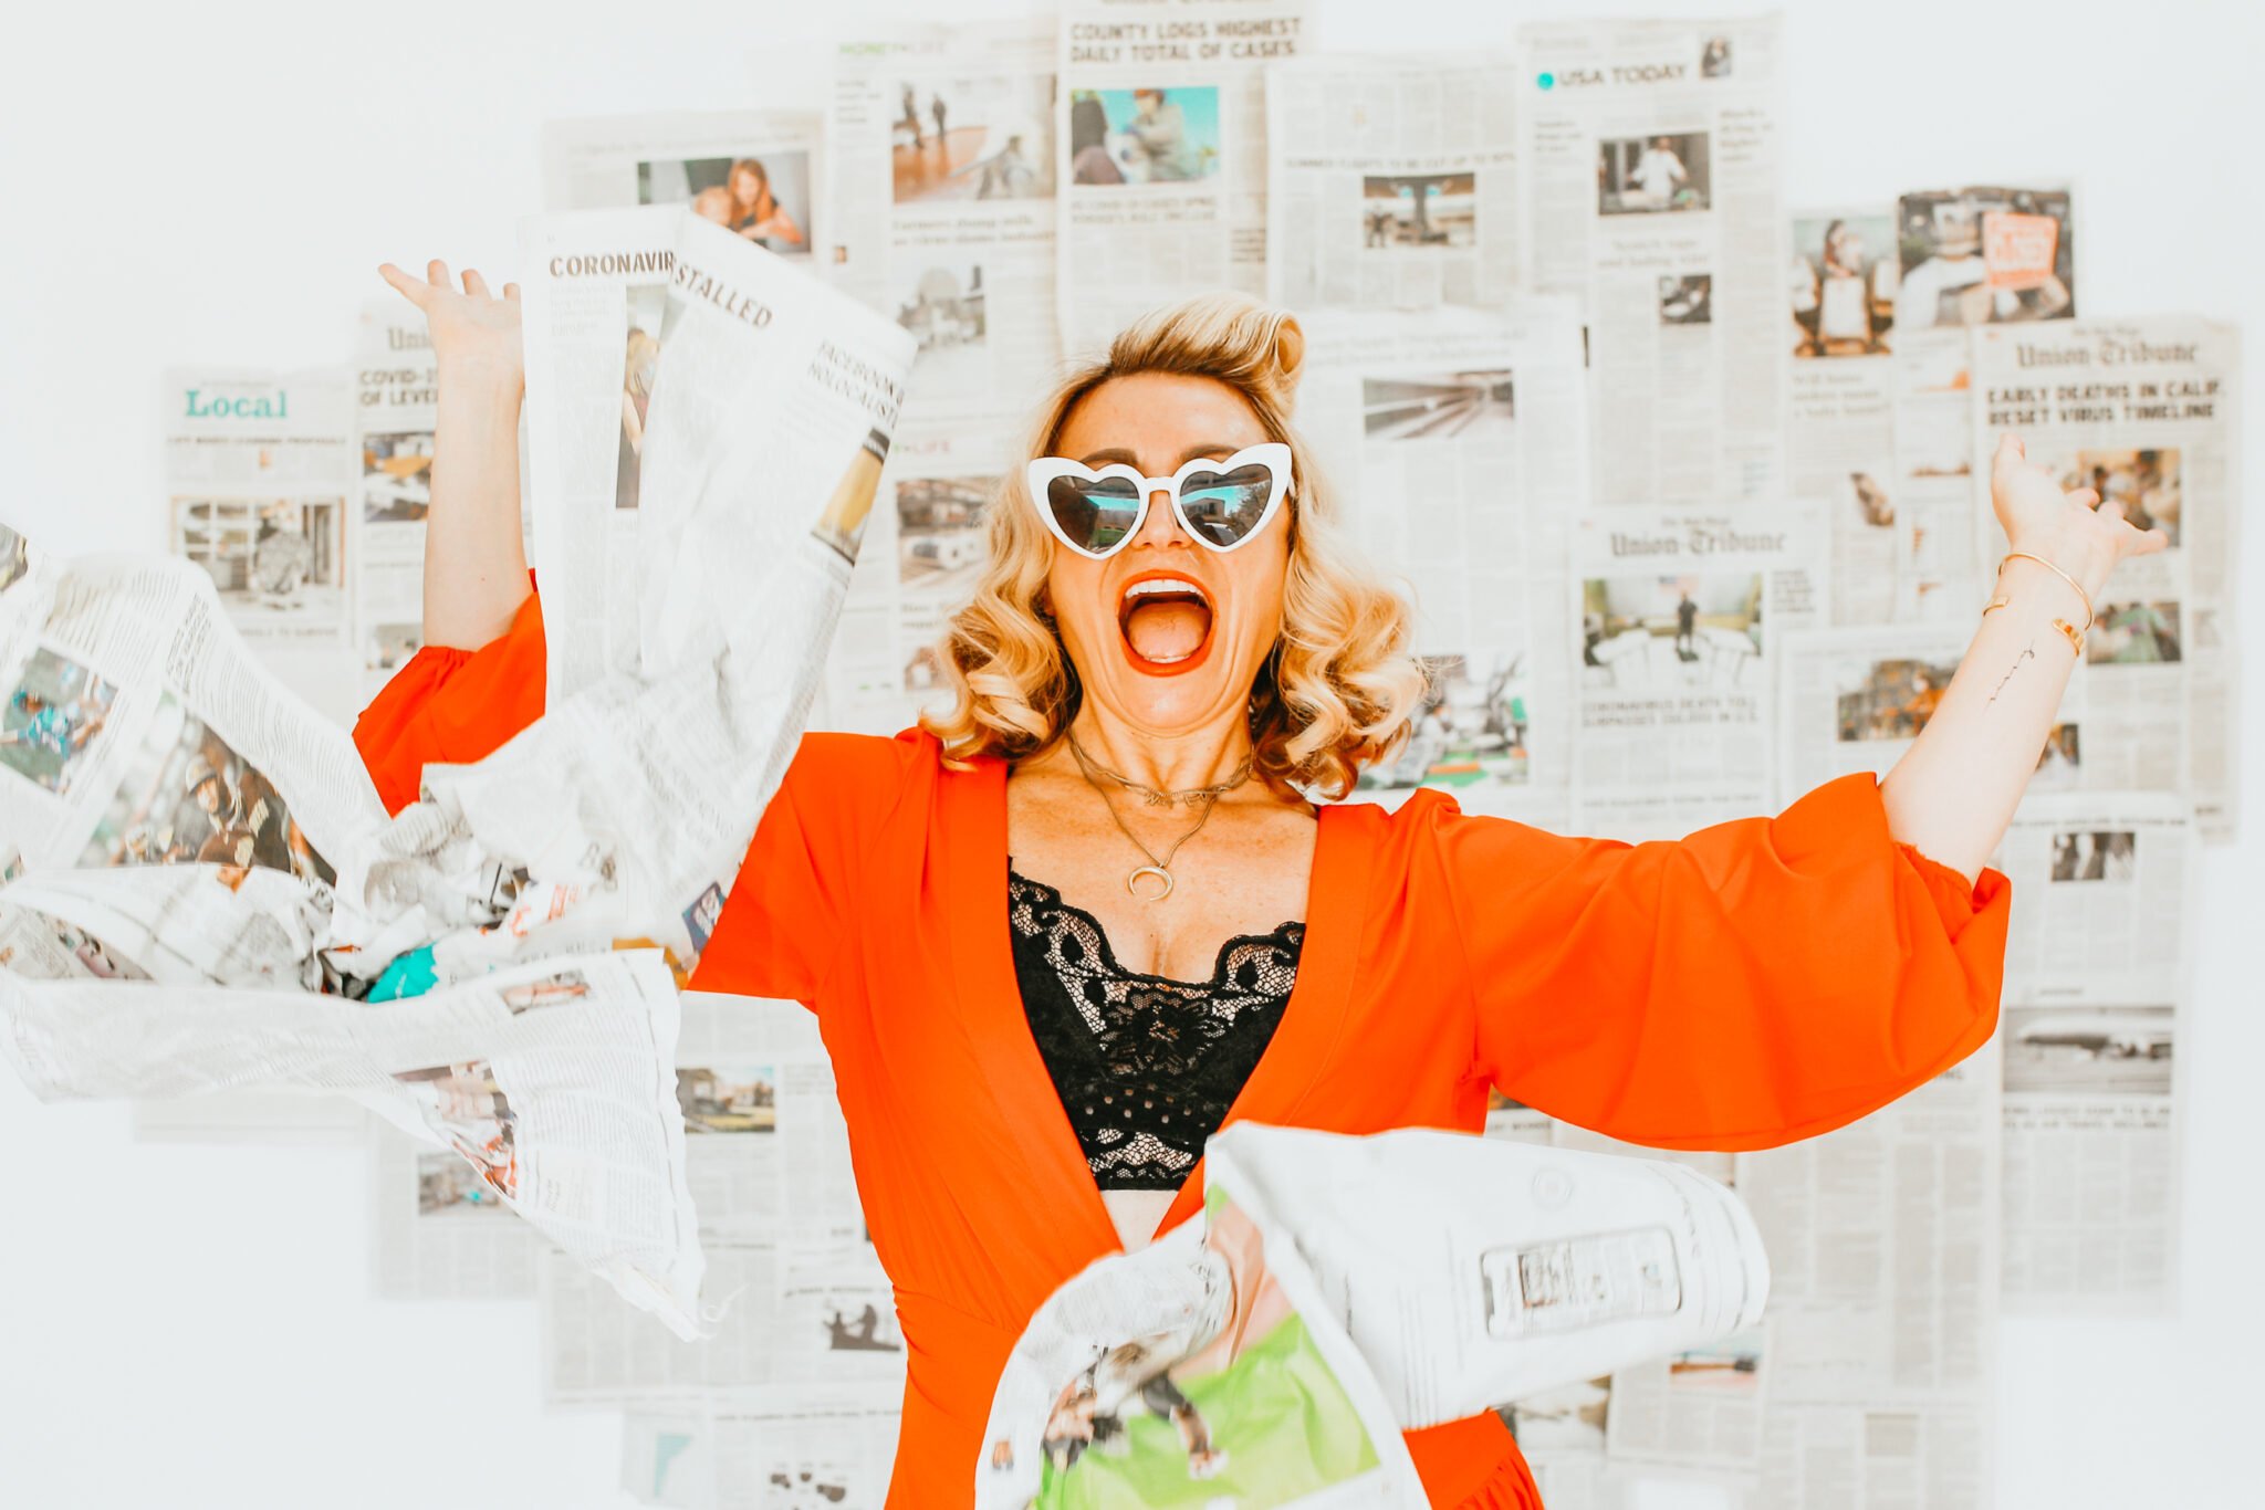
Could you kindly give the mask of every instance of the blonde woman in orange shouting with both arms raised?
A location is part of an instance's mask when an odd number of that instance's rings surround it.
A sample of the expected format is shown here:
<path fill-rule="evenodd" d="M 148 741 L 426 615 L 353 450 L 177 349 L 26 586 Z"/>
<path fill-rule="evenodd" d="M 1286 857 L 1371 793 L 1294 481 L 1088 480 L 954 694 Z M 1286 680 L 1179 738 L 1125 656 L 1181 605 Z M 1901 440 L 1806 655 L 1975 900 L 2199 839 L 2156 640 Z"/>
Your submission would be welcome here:
<path fill-rule="evenodd" d="M 516 303 L 439 263 L 387 276 L 442 369 L 426 650 L 356 729 L 399 806 L 426 761 L 541 711 L 544 647 Z M 1762 1148 L 1995 1026 L 2007 883 L 1982 860 L 2075 659 L 2061 570 L 2097 591 L 2156 541 L 2007 441 L 1998 514 L 2027 555 L 1937 715 L 1884 783 L 1776 820 L 1629 847 L 1434 790 L 1316 808 L 1298 788 L 1386 758 L 1422 677 L 1289 428 L 1302 351 L 1287 315 L 1219 297 L 1053 392 L 1040 491 L 1008 480 L 938 657 L 951 713 L 806 736 L 700 960 L 702 989 L 809 1003 L 834 1055 L 911 1361 L 892 1505 L 969 1501 L 1024 1322 L 1200 1207 L 1221 1121 L 1477 1130 L 1499 1087 L 1638 1143 Z M 1409 1447 L 1438 1505 L 1538 1503 L 1493 1415 Z"/>

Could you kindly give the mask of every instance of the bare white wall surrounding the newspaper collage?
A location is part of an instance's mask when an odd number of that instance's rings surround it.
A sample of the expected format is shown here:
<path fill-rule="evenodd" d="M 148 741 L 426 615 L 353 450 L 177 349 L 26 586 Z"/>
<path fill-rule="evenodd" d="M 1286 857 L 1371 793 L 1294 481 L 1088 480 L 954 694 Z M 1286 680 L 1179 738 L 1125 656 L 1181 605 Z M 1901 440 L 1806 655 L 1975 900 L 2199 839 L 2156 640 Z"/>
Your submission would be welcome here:
<path fill-rule="evenodd" d="M 920 9 L 1008 14 L 999 0 Z M 1484 0 L 1323 0 L 1339 48 L 1493 43 Z M 1629 9 L 1647 9 L 1631 5 Z M 1721 7 L 1651 5 L 1703 14 Z M 25 20 L 25 11 L 29 20 Z M 834 7 L 206 0 L 25 7 L 0 32 L 0 518 L 163 548 L 159 369 L 342 360 L 374 267 L 512 267 L 550 115 L 795 102 Z M 1792 204 L 2077 174 L 2088 315 L 2265 333 L 2254 5 L 1789 5 Z M 2260 398 L 2245 435 L 2265 471 Z M 2251 521 L 2245 582 L 2265 584 Z M 2208 856 L 2174 1320 L 2005 1329 L 2002 1503 L 2256 1503 L 2265 1193 L 2265 602 L 2242 604 L 2245 840 Z M 333 702 L 344 711 L 349 690 Z M 349 1148 L 149 1148 L 0 1075 L 0 1505 L 623 1503 L 612 1415 L 537 1408 L 532 1304 L 365 1297 Z"/>

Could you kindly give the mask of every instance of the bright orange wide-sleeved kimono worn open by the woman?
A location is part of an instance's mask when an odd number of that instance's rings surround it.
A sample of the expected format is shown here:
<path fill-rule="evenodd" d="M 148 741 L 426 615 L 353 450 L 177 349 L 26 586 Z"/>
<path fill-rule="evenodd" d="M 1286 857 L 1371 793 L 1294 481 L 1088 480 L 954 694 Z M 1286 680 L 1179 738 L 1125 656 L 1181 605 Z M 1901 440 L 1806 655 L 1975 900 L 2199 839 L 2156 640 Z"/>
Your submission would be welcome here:
<path fill-rule="evenodd" d="M 532 598 L 476 654 L 419 652 L 356 727 L 385 801 L 532 720 L 541 679 Z M 693 978 L 818 1012 L 908 1345 L 888 1503 L 922 1510 L 972 1503 L 1024 1322 L 1117 1250 L 1015 983 L 1006 774 L 920 731 L 806 736 Z M 1477 1132 L 1499 1087 L 1660 1148 L 1826 1132 L 1989 1039 L 2007 903 L 1896 844 L 1871 777 L 1633 847 L 1434 790 L 1325 806 L 1298 983 L 1228 1121 Z M 1407 1440 L 1436 1505 L 1540 1503 L 1495 1415 Z"/>

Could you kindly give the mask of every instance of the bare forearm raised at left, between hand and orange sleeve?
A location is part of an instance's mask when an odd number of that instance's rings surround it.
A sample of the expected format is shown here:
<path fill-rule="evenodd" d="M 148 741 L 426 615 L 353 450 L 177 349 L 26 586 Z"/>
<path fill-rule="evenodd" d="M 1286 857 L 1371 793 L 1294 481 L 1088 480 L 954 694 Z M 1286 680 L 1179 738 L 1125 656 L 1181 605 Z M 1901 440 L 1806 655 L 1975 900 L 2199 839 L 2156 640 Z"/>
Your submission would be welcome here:
<path fill-rule="evenodd" d="M 478 650 L 512 627 L 528 595 L 519 539 L 516 369 L 439 371 L 433 507 L 426 512 L 426 645 Z"/>

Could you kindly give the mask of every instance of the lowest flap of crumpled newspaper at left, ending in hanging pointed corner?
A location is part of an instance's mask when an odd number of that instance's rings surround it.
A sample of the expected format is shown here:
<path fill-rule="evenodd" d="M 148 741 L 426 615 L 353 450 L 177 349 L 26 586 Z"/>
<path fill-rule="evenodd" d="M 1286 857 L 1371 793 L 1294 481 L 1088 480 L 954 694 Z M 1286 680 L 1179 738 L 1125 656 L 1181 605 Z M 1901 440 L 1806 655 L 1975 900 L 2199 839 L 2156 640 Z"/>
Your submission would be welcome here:
<path fill-rule="evenodd" d="M 353 1096 L 462 1157 L 625 1309 L 702 1333 L 670 1073 L 677 994 L 655 949 L 537 960 L 381 1005 L 0 971 L 0 1055 L 45 1100 L 231 1087 Z"/>

